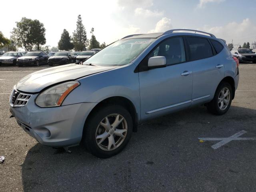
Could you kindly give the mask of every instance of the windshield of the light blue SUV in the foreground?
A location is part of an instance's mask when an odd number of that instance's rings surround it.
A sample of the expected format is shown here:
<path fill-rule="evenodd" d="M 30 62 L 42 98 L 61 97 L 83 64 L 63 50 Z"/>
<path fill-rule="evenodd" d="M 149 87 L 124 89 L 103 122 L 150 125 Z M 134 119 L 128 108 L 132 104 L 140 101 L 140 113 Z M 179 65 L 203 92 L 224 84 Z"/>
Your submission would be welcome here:
<path fill-rule="evenodd" d="M 84 64 L 100 66 L 126 65 L 134 60 L 154 40 L 152 38 L 136 38 L 116 41 L 88 58 Z"/>

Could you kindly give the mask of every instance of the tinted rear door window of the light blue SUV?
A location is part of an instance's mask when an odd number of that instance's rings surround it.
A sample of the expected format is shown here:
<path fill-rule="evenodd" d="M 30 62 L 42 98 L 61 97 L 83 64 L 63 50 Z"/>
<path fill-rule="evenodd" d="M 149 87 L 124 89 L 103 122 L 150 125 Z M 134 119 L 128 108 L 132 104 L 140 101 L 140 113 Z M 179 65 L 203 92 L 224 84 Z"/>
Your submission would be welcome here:
<path fill-rule="evenodd" d="M 198 37 L 187 37 L 190 60 L 199 60 L 213 56 L 212 47 L 207 39 Z"/>

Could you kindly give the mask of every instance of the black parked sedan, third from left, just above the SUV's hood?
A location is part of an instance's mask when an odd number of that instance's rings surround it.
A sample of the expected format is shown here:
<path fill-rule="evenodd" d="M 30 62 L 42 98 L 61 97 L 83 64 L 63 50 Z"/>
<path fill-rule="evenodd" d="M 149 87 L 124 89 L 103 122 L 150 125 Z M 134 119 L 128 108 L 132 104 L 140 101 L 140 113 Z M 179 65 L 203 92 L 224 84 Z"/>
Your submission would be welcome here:
<path fill-rule="evenodd" d="M 75 63 L 76 58 L 69 51 L 56 52 L 48 59 L 49 66 Z"/>

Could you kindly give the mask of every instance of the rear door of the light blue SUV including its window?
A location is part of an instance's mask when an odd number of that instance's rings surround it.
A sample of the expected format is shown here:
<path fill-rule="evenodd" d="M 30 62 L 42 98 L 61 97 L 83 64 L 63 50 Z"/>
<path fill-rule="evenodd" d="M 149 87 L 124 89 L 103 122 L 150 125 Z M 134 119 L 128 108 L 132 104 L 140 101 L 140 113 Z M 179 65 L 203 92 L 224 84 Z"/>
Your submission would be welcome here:
<path fill-rule="evenodd" d="M 224 78 L 224 60 L 208 38 L 188 36 L 186 42 L 193 66 L 192 105 L 209 102 Z"/>

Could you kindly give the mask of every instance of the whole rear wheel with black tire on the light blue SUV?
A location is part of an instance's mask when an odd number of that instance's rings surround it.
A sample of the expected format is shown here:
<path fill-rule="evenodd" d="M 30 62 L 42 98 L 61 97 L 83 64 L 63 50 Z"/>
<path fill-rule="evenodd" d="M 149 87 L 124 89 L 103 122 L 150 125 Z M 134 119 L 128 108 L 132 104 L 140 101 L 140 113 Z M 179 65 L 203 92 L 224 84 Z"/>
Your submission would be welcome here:
<path fill-rule="evenodd" d="M 229 91 L 229 95 L 225 97 L 225 94 L 227 94 L 227 90 Z M 207 109 L 212 114 L 223 115 L 230 108 L 232 98 L 233 91 L 230 84 L 228 82 L 221 82 L 214 94 L 214 98 L 212 99 L 211 102 L 207 104 Z"/>

